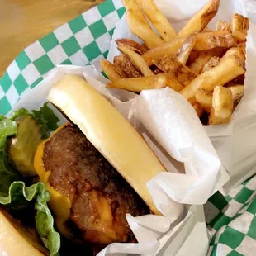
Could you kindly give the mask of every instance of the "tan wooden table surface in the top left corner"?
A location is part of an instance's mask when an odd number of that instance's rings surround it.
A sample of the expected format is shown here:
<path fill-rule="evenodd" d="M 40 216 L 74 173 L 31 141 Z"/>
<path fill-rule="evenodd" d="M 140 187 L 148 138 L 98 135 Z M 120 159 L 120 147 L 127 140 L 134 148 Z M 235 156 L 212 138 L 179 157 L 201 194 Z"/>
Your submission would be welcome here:
<path fill-rule="evenodd" d="M 0 0 L 0 78 L 35 40 L 104 0 Z"/>

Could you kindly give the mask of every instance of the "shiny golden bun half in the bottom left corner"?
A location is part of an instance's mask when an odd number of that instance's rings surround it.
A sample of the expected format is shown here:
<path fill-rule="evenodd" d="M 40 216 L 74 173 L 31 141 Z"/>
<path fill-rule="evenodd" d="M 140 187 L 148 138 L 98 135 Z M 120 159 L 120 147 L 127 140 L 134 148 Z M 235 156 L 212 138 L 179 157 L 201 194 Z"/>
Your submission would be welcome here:
<path fill-rule="evenodd" d="M 0 255 L 44 256 L 46 249 L 6 211 L 0 211 Z"/>

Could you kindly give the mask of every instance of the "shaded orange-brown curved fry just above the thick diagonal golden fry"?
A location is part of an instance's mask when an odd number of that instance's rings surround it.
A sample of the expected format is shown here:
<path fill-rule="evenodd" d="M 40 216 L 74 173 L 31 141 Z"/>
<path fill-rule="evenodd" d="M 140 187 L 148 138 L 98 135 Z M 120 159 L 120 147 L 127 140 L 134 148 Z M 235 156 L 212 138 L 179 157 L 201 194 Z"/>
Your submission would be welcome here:
<path fill-rule="evenodd" d="M 201 73 L 201 70 L 203 69 L 205 64 L 211 59 L 211 57 L 220 56 L 221 52 L 221 49 L 212 49 L 207 50 L 206 52 L 201 51 L 197 59 L 192 62 L 192 64 L 190 64 L 188 68 L 191 69 L 194 73 Z"/>

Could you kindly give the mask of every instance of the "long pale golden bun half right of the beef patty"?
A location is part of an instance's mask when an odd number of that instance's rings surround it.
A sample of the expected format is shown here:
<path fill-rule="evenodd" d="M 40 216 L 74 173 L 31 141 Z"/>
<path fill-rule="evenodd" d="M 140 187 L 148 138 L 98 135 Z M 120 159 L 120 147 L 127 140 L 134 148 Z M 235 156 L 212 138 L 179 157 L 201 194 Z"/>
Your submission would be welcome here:
<path fill-rule="evenodd" d="M 65 75 L 50 90 L 50 102 L 59 107 L 140 195 L 156 215 L 147 183 L 163 165 L 145 140 L 119 111 L 82 78 Z"/>

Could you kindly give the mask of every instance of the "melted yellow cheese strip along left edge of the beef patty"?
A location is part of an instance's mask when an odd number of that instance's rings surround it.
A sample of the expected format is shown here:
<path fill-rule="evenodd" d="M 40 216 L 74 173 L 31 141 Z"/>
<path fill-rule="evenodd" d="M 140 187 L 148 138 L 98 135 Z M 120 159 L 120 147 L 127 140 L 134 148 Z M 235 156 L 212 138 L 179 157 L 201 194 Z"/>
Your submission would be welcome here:
<path fill-rule="evenodd" d="M 57 130 L 55 130 L 54 134 L 57 133 L 64 126 L 59 126 Z M 50 138 L 53 136 L 51 135 Z M 55 222 L 59 228 L 59 231 L 66 237 L 70 237 L 71 234 L 68 228 L 65 225 L 65 222 L 69 220 L 70 209 L 71 209 L 71 201 L 69 197 L 64 196 L 60 192 L 56 191 L 53 187 L 50 186 L 50 182 L 48 180 L 50 176 L 50 170 L 45 170 L 43 163 L 43 155 L 45 143 L 50 140 L 44 140 L 37 148 L 35 159 L 34 159 L 34 168 L 36 173 L 38 174 L 40 180 L 46 184 L 47 190 L 50 192 L 50 208 L 55 212 Z"/>

